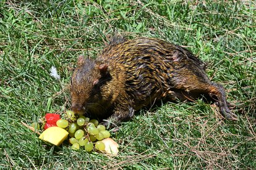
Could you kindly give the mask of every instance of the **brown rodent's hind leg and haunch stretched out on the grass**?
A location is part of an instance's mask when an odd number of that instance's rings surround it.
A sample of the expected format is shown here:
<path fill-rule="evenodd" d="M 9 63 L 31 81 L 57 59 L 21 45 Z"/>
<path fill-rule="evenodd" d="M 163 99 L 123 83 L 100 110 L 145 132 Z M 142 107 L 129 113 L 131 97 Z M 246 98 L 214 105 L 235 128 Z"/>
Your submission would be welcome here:
<path fill-rule="evenodd" d="M 220 84 L 209 81 L 202 61 L 194 57 L 186 49 L 177 47 L 177 51 L 173 53 L 173 70 L 171 71 L 170 85 L 176 90 L 180 90 L 188 95 L 188 98 L 197 98 L 200 94 L 207 94 L 212 100 L 218 103 L 220 113 L 227 119 L 237 119 L 227 105 L 224 88 Z M 182 99 L 180 93 L 176 93 L 174 97 Z"/>

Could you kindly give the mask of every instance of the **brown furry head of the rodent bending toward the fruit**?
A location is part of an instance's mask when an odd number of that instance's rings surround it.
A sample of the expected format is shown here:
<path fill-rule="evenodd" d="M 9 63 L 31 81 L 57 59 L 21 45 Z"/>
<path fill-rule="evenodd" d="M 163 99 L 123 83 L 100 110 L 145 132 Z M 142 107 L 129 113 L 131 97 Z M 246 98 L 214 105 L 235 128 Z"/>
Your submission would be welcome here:
<path fill-rule="evenodd" d="M 90 105 L 99 102 L 102 98 L 101 87 L 108 78 L 108 65 L 80 55 L 71 78 L 72 110 L 83 114 Z"/>

